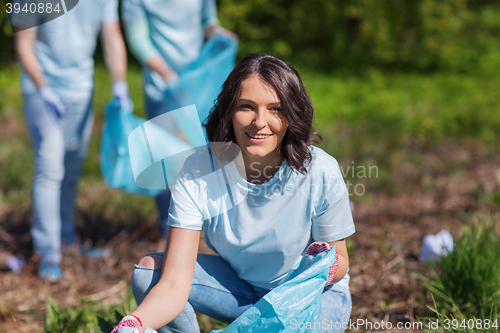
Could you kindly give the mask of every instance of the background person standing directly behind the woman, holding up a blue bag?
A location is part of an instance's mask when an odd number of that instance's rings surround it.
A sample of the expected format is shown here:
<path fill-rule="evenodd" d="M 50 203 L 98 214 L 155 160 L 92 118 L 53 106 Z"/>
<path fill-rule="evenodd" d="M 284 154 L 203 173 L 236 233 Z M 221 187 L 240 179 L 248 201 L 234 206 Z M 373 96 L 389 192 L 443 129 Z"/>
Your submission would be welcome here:
<path fill-rule="evenodd" d="M 146 113 L 149 119 L 167 110 L 163 91 L 198 58 L 205 38 L 225 34 L 215 0 L 123 0 L 122 19 L 132 54 L 143 65 Z M 170 191 L 156 197 L 163 240 L 168 233 Z M 164 247 L 164 241 L 160 245 Z"/>

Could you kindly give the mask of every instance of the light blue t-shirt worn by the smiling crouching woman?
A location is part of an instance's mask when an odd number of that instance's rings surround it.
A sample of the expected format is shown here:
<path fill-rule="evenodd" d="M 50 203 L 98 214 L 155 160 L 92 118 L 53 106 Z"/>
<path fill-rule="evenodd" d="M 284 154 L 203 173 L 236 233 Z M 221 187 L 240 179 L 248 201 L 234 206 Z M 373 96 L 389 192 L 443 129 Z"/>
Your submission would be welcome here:
<path fill-rule="evenodd" d="M 234 163 L 212 172 L 210 154 L 191 155 L 171 187 L 169 225 L 204 231 L 205 241 L 241 279 L 272 289 L 295 269 L 313 241 L 333 242 L 355 231 L 337 161 L 311 147 L 305 174 L 283 161 L 264 184 L 244 180 Z M 212 154 L 214 162 L 218 162 Z M 229 184 L 229 186 L 226 186 Z M 228 189 L 229 188 L 229 189 Z M 349 275 L 334 286 L 349 288 Z"/>

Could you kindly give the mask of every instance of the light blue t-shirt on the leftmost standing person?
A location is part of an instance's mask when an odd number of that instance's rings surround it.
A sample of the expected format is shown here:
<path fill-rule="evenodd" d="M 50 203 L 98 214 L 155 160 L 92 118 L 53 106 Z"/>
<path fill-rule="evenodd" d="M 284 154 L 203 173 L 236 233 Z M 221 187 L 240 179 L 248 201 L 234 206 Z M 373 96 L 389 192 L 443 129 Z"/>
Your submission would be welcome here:
<path fill-rule="evenodd" d="M 80 0 L 66 14 L 37 27 L 35 54 L 47 84 L 59 96 L 77 100 L 90 98 L 97 36 L 103 23 L 117 20 L 117 0 Z M 12 24 L 23 26 L 23 22 Z M 37 90 L 24 71 L 21 85 L 25 93 Z"/>

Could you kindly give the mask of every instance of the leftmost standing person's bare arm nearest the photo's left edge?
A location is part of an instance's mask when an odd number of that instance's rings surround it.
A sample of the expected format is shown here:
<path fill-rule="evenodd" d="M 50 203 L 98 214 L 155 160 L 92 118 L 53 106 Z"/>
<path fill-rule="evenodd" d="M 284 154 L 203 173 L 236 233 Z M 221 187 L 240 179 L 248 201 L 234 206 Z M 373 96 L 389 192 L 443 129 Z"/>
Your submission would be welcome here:
<path fill-rule="evenodd" d="M 28 76 L 33 80 L 37 88 L 46 85 L 45 76 L 40 62 L 35 54 L 35 41 L 38 29 L 31 28 L 21 30 L 15 34 L 15 47 L 17 56 Z"/>

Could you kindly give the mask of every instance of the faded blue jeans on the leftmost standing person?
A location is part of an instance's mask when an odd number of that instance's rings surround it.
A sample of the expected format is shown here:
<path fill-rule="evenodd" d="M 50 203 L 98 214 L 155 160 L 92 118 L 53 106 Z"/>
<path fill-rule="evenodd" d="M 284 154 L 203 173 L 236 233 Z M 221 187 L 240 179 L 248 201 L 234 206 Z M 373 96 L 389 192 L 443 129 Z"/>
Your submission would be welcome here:
<path fill-rule="evenodd" d="M 23 95 L 23 112 L 34 150 L 32 187 L 34 251 L 42 262 L 61 261 L 61 241 L 75 241 L 74 205 L 92 124 L 91 99 L 65 100 L 66 116 L 56 122 L 38 93 Z"/>

